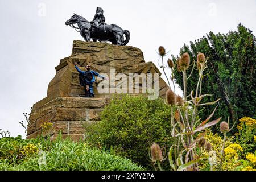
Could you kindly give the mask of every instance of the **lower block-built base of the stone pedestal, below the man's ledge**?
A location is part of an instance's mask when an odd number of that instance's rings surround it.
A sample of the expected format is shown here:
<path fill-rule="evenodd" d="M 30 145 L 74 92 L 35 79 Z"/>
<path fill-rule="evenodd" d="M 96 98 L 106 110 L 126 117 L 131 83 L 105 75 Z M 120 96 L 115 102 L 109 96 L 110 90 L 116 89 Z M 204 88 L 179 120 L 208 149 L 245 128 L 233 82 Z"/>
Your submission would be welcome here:
<path fill-rule="evenodd" d="M 100 112 L 106 105 L 105 98 L 57 97 L 42 106 L 36 105 L 30 114 L 27 138 L 41 134 L 41 125 L 53 123 L 53 135 L 84 134 L 82 122 L 100 120 Z M 75 137 L 76 138 L 76 137 Z"/>

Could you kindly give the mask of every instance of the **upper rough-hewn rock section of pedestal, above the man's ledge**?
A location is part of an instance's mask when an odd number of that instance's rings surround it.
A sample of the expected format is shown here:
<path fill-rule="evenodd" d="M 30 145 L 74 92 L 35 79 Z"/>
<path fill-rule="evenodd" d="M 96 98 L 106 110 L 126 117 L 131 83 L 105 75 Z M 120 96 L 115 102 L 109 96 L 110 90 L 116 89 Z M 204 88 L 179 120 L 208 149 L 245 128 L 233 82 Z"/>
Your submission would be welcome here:
<path fill-rule="evenodd" d="M 60 60 L 60 65 L 55 69 L 55 77 L 49 83 L 47 97 L 81 97 L 84 96 L 84 88 L 79 84 L 79 73 L 73 63 L 77 62 L 81 70 L 90 64 L 92 70 L 98 73 L 105 73 L 110 77 L 110 70 L 129 75 L 130 73 L 158 73 L 160 71 L 152 62 L 145 62 L 140 49 L 131 46 L 116 46 L 108 43 L 83 42 L 75 40 L 73 42 L 72 55 Z M 108 98 L 112 94 L 99 94 L 97 85 L 101 82 L 96 80 L 93 90 L 96 97 Z M 115 85 L 118 83 L 115 80 Z M 164 83 L 166 86 L 166 84 Z M 159 88 L 161 90 L 162 87 Z M 161 92 L 165 94 L 164 92 Z M 163 95 L 160 95 L 163 96 Z"/>

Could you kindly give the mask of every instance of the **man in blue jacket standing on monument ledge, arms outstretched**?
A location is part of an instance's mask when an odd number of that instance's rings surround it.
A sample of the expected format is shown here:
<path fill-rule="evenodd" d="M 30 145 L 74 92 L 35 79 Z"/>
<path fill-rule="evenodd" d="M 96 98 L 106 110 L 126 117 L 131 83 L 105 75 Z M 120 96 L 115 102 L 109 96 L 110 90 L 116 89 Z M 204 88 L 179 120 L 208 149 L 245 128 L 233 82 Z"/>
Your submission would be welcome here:
<path fill-rule="evenodd" d="M 97 72 L 90 70 L 89 64 L 86 65 L 86 71 L 81 71 L 79 67 L 77 67 L 77 63 L 74 63 L 74 65 L 76 70 L 79 72 L 80 85 L 84 86 L 85 97 L 94 97 L 93 87 L 92 87 L 95 81 L 94 75 L 106 80 L 108 80 L 108 78 L 100 75 Z"/>

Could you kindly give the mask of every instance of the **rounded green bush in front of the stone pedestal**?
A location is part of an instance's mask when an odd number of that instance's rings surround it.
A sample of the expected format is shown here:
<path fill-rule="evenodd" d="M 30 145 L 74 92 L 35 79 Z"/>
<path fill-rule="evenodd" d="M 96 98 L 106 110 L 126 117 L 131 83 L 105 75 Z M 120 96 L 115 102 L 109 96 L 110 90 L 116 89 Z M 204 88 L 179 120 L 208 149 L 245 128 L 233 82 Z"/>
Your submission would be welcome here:
<path fill-rule="evenodd" d="M 101 112 L 100 122 L 85 126 L 86 140 L 150 168 L 152 163 L 145 156 L 151 144 L 158 143 L 165 153 L 172 144 L 170 107 L 161 98 L 121 97 L 112 98 Z"/>

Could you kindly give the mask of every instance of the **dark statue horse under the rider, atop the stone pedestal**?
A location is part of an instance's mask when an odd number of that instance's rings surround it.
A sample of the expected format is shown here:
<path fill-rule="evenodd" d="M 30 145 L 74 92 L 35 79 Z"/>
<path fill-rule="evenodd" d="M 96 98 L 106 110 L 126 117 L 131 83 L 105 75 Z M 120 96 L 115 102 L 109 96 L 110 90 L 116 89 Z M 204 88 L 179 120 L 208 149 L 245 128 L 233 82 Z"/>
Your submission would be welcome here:
<path fill-rule="evenodd" d="M 73 25 L 75 23 L 77 23 L 78 27 Z M 65 24 L 72 28 L 80 29 L 79 32 L 86 42 L 93 39 L 94 42 L 97 40 L 100 42 L 110 41 L 112 44 L 123 46 L 130 40 L 130 32 L 128 30 L 122 30 L 122 28 L 116 24 L 104 24 L 98 28 L 94 28 L 92 22 L 89 22 L 84 17 L 77 14 L 71 16 Z"/>

